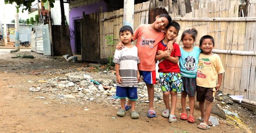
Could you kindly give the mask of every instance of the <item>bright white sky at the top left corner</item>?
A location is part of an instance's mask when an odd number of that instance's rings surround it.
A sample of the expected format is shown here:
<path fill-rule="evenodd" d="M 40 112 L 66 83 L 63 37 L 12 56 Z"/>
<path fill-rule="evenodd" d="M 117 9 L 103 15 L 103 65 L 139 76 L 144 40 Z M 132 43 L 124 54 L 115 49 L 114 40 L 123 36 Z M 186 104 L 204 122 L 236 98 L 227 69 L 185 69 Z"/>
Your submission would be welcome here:
<path fill-rule="evenodd" d="M 15 19 L 15 12 L 16 12 L 15 5 L 16 5 L 15 3 L 5 5 L 4 1 L 0 0 L 0 23 L 4 23 L 4 16 L 6 19 L 6 23 L 11 23 L 11 21 Z M 20 9 L 19 18 L 24 20 L 29 19 L 28 11 L 24 11 L 24 13 L 22 13 L 22 9 Z"/>

